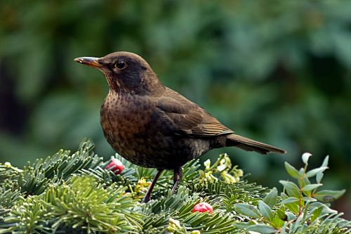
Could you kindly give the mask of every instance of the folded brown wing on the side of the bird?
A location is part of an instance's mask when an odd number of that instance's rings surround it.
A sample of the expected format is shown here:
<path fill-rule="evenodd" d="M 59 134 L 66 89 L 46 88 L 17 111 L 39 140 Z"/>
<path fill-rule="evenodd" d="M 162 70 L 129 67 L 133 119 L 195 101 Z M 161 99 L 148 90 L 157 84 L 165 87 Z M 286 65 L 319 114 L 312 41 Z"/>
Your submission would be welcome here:
<path fill-rule="evenodd" d="M 156 105 L 164 117 L 173 122 L 176 134 L 208 137 L 234 133 L 206 110 L 183 96 L 160 97 Z"/>

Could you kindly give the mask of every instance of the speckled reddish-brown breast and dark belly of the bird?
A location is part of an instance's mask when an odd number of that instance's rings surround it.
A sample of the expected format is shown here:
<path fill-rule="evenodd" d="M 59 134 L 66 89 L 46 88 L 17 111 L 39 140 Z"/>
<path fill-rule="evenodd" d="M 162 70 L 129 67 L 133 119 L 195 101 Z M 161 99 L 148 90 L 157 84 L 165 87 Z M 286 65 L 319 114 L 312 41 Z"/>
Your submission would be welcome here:
<path fill-rule="evenodd" d="M 133 96 L 107 96 L 100 121 L 112 148 L 141 167 L 173 169 L 209 148 L 208 141 L 174 134 L 172 123 L 152 103 Z"/>

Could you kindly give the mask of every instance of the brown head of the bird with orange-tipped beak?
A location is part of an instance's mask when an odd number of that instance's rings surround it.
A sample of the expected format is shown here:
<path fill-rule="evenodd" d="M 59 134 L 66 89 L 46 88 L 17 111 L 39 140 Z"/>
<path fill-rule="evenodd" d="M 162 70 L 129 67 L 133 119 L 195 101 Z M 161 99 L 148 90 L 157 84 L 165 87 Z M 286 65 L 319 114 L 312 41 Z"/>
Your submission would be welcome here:
<path fill-rule="evenodd" d="M 74 61 L 100 70 L 110 89 L 117 92 L 143 95 L 161 86 L 150 65 L 135 53 L 114 52 L 102 58 L 80 57 Z"/>

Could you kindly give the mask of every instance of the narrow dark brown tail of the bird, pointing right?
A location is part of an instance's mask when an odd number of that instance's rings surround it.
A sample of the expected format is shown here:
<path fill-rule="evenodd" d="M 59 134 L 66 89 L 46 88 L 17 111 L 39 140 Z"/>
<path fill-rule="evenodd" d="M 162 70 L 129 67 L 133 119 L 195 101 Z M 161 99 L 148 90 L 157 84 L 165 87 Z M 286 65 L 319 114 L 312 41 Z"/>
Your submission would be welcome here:
<path fill-rule="evenodd" d="M 237 134 L 227 135 L 226 140 L 227 140 L 226 141 L 227 146 L 236 146 L 243 150 L 256 151 L 263 155 L 266 155 L 268 152 L 277 152 L 279 154 L 286 153 L 285 150 L 282 150 L 272 145 L 267 145 L 265 143 L 261 143 L 258 141 L 253 141 L 249 138 L 246 138 L 244 136 L 239 136 Z"/>

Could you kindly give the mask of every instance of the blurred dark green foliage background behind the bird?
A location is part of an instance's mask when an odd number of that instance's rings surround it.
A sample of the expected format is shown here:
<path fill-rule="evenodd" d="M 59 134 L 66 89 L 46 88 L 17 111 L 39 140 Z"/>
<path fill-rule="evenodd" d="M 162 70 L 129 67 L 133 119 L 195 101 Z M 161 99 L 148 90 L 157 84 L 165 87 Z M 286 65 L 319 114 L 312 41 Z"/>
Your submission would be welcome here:
<path fill-rule="evenodd" d="M 22 166 L 77 148 L 114 152 L 100 129 L 107 84 L 79 56 L 131 51 L 166 86 L 238 134 L 288 150 L 227 152 L 249 181 L 279 186 L 284 161 L 330 155 L 324 183 L 350 218 L 351 1 L 1 1 L 0 157 Z"/>

